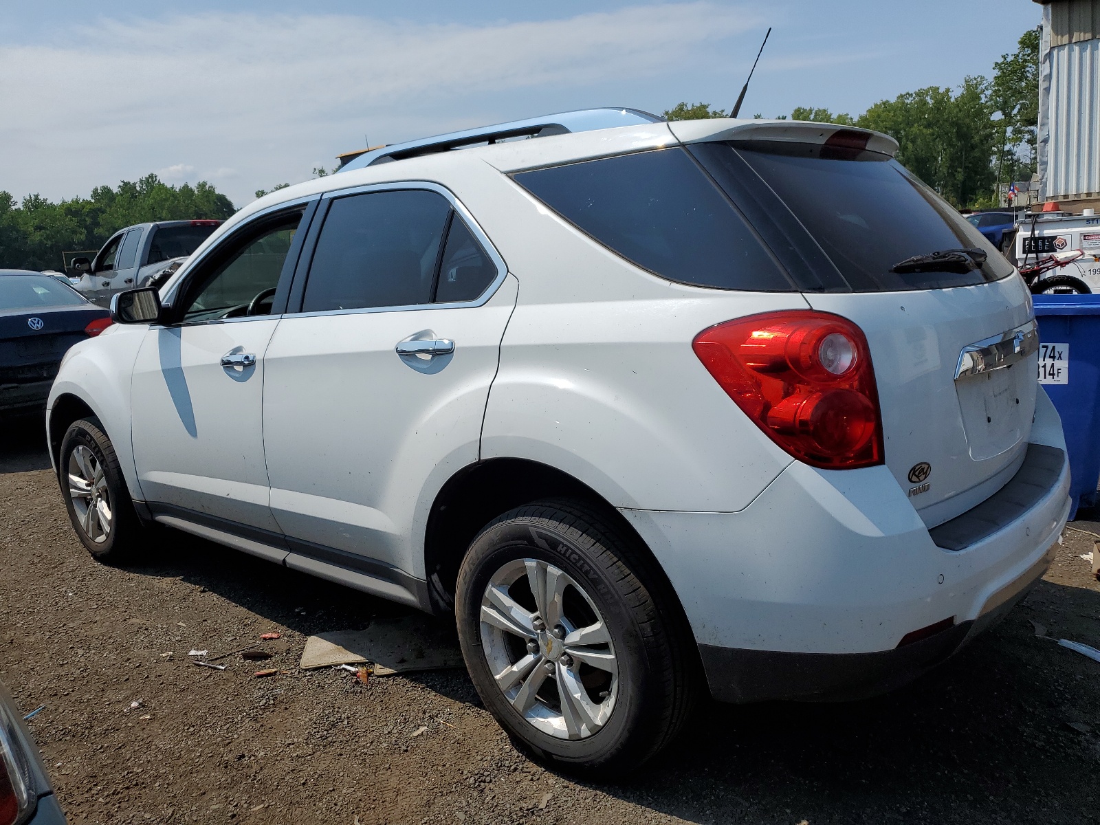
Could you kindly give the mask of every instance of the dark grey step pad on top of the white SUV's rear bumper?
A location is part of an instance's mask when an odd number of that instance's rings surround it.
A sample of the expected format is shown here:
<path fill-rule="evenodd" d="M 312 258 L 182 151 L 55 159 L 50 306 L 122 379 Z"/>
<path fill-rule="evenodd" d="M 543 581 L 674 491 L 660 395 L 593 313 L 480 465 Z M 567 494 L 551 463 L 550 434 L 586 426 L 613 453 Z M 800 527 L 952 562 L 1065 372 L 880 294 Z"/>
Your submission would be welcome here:
<path fill-rule="evenodd" d="M 1058 483 L 1066 453 L 1057 447 L 1027 444 L 1024 463 L 1015 475 L 989 498 L 950 521 L 928 530 L 944 550 L 965 550 L 1015 521 L 1034 507 Z"/>

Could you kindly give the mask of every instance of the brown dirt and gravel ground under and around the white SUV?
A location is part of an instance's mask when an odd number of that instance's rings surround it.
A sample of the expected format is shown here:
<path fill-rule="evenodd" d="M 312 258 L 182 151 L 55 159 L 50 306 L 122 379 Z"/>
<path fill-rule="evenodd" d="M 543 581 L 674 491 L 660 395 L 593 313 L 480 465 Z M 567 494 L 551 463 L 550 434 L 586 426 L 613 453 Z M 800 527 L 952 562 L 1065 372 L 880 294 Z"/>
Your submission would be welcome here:
<path fill-rule="evenodd" d="M 125 569 L 73 535 L 37 425 L 0 447 L 0 680 L 70 823 L 1094 823 L 1100 584 L 1078 521 L 1046 580 L 915 684 L 834 705 L 707 704 L 637 776 L 517 754 L 460 671 L 299 671 L 308 635 L 396 607 L 184 535 Z M 278 631 L 267 662 L 230 657 Z M 172 656 L 165 656 L 173 651 Z M 286 671 L 254 679 L 257 668 Z M 141 706 L 129 710 L 132 702 Z M 1077 723 L 1080 729 L 1070 726 Z M 419 735 L 414 734 L 427 727 Z"/>

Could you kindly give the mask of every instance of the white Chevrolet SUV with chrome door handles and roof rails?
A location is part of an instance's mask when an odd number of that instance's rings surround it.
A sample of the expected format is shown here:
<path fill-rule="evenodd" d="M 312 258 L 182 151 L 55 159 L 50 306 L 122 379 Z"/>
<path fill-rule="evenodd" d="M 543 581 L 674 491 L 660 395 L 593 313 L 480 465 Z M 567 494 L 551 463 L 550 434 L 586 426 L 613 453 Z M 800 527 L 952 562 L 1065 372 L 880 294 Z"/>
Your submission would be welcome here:
<path fill-rule="evenodd" d="M 891 139 L 488 144 L 280 189 L 117 296 L 50 398 L 92 554 L 161 522 L 453 610 L 514 740 L 602 771 L 704 684 L 910 681 L 1043 574 L 1069 473 L 1027 289 Z"/>

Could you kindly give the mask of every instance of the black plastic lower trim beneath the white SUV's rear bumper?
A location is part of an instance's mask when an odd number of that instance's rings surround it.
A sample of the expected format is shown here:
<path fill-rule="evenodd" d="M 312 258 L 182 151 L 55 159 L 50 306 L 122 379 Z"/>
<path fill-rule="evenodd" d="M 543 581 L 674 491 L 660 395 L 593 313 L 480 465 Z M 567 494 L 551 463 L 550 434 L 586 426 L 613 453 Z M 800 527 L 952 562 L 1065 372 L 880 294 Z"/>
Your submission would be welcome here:
<path fill-rule="evenodd" d="M 840 702 L 901 688 L 954 653 L 972 622 L 912 645 L 871 653 L 791 653 L 700 645 L 711 695 L 719 702 Z"/>

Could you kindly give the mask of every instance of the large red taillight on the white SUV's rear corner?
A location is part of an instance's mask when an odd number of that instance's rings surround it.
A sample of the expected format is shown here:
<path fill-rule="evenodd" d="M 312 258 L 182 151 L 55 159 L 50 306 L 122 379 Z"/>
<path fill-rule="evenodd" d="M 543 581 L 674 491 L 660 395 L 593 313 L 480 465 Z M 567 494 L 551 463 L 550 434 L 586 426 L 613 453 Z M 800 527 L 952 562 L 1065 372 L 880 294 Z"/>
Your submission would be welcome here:
<path fill-rule="evenodd" d="M 692 349 L 726 394 L 794 458 L 831 470 L 882 463 L 882 416 L 862 330 L 789 310 L 726 321 Z"/>

